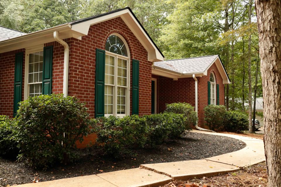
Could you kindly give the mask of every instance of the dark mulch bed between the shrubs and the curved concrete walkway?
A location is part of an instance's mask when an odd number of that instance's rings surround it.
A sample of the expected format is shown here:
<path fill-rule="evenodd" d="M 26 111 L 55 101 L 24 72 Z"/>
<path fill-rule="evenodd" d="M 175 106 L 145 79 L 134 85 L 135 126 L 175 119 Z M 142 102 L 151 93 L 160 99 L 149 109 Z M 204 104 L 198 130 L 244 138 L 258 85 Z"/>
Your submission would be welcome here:
<path fill-rule="evenodd" d="M 0 186 L 63 179 L 75 176 L 137 168 L 141 164 L 198 160 L 244 148 L 246 144 L 234 138 L 201 133 L 187 133 L 184 138 L 169 140 L 155 148 L 133 151 L 133 156 L 112 159 L 96 148 L 77 150 L 79 159 L 69 165 L 57 165 L 46 171 L 32 169 L 23 162 L 0 157 Z"/>

